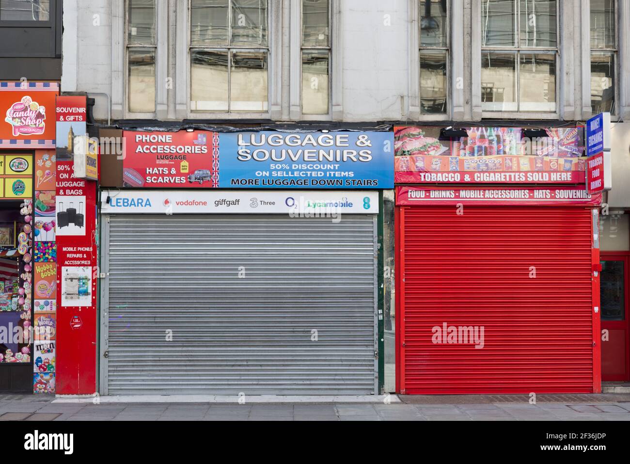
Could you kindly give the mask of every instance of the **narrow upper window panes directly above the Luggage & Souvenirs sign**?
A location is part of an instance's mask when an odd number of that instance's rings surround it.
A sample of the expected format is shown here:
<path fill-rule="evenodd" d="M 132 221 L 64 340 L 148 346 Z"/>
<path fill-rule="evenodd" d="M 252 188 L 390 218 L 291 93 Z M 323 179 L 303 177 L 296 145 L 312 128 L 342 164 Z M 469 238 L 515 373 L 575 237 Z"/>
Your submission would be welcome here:
<path fill-rule="evenodd" d="M 328 115 L 330 2 L 302 0 L 302 114 Z"/>

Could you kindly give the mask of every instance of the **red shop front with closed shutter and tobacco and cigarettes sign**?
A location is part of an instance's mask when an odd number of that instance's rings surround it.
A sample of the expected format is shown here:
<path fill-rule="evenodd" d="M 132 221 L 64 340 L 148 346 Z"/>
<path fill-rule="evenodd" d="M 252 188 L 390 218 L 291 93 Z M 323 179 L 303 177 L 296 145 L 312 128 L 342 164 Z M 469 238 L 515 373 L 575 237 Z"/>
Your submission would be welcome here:
<path fill-rule="evenodd" d="M 600 391 L 581 128 L 459 132 L 396 128 L 396 391 Z"/>

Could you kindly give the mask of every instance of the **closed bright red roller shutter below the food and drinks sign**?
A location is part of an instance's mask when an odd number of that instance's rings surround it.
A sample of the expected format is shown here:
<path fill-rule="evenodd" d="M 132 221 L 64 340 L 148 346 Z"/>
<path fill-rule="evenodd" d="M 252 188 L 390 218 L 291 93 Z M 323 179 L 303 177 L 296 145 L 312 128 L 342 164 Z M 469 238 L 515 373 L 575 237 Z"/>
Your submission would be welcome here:
<path fill-rule="evenodd" d="M 399 211 L 400 391 L 592 392 L 590 210 L 456 211 Z M 434 343 L 444 323 L 484 327 L 483 348 Z"/>

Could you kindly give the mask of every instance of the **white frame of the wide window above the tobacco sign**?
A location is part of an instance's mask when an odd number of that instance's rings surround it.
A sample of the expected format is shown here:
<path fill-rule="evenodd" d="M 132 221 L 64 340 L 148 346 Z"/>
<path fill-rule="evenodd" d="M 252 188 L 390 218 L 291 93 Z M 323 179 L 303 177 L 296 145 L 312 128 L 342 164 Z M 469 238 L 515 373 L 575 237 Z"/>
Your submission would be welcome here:
<path fill-rule="evenodd" d="M 471 48 L 472 48 L 472 60 L 471 65 L 473 67 L 473 76 L 471 79 L 471 100 L 473 103 L 473 119 L 559 119 L 561 108 L 563 106 L 563 97 L 562 90 L 563 86 L 561 84 L 562 81 L 562 62 L 561 62 L 561 48 L 564 43 L 563 37 L 561 37 L 561 27 L 560 23 L 562 20 L 562 12 L 563 12 L 563 4 L 561 0 L 556 0 L 556 47 L 520 47 L 520 43 L 515 47 L 481 47 L 481 34 L 483 33 L 481 28 L 481 3 L 484 0 L 472 0 L 472 18 L 471 18 Z M 517 5 L 517 17 L 514 19 L 515 24 L 518 25 L 518 8 L 519 3 L 516 0 Z M 517 37 L 517 41 L 520 41 L 520 37 Z M 517 56 L 516 61 L 516 97 L 517 97 L 517 105 L 519 103 L 520 96 L 518 91 L 518 80 L 519 74 L 518 69 L 520 67 L 520 63 L 518 61 L 518 56 L 521 53 L 527 54 L 528 52 L 532 53 L 553 53 L 556 55 L 556 75 L 555 75 L 555 86 L 556 86 L 556 110 L 553 112 L 530 112 L 530 111 L 491 111 L 491 110 L 483 110 L 481 108 L 481 55 L 483 52 L 515 52 Z M 590 100 L 589 100 L 590 105 Z"/>

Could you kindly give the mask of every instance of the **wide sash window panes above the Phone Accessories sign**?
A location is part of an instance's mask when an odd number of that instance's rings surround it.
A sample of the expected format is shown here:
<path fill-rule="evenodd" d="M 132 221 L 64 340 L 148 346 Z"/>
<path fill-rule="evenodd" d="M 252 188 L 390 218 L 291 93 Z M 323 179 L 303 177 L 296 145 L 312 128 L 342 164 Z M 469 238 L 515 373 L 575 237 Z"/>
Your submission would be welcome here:
<path fill-rule="evenodd" d="M 267 0 L 191 0 L 190 110 L 267 112 Z"/>

